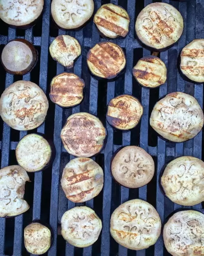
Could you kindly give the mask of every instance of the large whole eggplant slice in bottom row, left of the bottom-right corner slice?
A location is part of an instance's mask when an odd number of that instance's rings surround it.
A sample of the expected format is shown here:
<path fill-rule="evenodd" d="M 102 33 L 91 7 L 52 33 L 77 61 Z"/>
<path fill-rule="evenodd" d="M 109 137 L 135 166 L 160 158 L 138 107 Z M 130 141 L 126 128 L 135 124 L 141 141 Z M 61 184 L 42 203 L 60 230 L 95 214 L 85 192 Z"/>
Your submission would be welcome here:
<path fill-rule="evenodd" d="M 111 215 L 110 234 L 118 244 L 142 250 L 155 244 L 161 233 L 161 220 L 155 208 L 140 199 L 121 204 Z"/>

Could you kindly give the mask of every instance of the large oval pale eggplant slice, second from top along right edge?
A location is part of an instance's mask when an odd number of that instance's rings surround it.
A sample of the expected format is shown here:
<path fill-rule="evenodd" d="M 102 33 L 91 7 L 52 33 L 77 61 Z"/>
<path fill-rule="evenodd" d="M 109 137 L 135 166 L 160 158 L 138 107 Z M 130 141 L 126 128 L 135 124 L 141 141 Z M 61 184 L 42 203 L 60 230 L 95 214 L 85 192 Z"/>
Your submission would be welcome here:
<path fill-rule="evenodd" d="M 203 127 L 204 116 L 197 100 L 184 92 L 172 92 L 159 100 L 151 112 L 150 125 L 165 139 L 184 142 Z"/>

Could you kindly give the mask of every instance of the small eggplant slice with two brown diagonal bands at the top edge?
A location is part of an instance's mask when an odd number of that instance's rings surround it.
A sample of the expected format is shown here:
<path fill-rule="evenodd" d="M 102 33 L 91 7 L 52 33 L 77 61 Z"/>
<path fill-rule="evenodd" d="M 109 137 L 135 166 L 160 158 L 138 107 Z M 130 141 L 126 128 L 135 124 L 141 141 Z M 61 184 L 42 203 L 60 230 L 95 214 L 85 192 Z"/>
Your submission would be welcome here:
<path fill-rule="evenodd" d="M 129 31 L 129 15 L 115 4 L 102 5 L 94 16 L 98 30 L 109 38 L 125 37 Z"/>

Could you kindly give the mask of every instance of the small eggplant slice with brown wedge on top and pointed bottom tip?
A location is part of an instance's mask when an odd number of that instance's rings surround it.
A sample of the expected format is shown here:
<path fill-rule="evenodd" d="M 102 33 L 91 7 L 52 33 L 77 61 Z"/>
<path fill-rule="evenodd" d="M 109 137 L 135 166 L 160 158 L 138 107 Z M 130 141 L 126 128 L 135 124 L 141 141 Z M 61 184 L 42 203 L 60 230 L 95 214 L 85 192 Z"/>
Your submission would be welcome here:
<path fill-rule="evenodd" d="M 49 46 L 53 60 L 66 68 L 74 66 L 75 59 L 81 54 L 81 46 L 72 36 L 57 36 Z"/>

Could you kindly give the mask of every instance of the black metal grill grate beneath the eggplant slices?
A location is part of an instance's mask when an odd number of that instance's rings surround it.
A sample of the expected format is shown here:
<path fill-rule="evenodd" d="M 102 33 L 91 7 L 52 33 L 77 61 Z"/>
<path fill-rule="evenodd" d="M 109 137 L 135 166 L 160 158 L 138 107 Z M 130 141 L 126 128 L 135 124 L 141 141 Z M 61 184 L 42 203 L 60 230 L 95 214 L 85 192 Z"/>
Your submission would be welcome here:
<path fill-rule="evenodd" d="M 149 115 L 153 105 L 163 95 L 173 92 L 182 91 L 194 95 L 200 105 L 203 105 L 203 85 L 194 85 L 185 82 L 177 72 L 177 56 L 181 49 L 194 38 L 204 38 L 204 1 L 203 0 L 187 0 L 187 2 L 176 2 L 163 0 L 175 6 L 181 12 L 184 18 L 184 32 L 179 42 L 168 51 L 162 52 L 160 58 L 168 67 L 168 80 L 165 85 L 160 88 L 149 90 L 141 88 L 132 76 L 133 64 L 142 56 L 151 54 L 149 50 L 142 48 L 135 39 L 135 20 L 141 9 L 151 2 L 161 2 L 159 0 L 94 0 L 95 11 L 101 4 L 112 2 L 123 6 L 129 13 L 131 18 L 129 26 L 129 34 L 125 39 L 116 39 L 113 42 L 124 48 L 127 58 L 126 72 L 114 82 L 104 82 L 96 80 L 90 76 L 86 66 L 86 54 L 88 50 L 99 41 L 106 41 L 99 36 L 96 26 L 92 25 L 92 21 L 82 30 L 77 32 L 63 32 L 58 30 L 50 18 L 51 0 L 45 0 L 45 8 L 40 21 L 28 30 L 15 30 L 8 28 L 2 22 L 0 23 L 0 50 L 8 40 L 18 38 L 26 38 L 33 42 L 39 51 L 39 61 L 31 74 L 25 76 L 13 76 L 6 74 L 2 66 L 0 66 L 1 86 L 0 93 L 5 87 L 8 87 L 16 80 L 31 80 L 49 94 L 49 83 L 56 75 L 64 71 L 63 66 L 57 64 L 49 56 L 49 44 L 53 38 L 60 34 L 69 34 L 74 36 L 82 46 L 82 55 L 78 58 L 73 69 L 66 70 L 75 72 L 81 76 L 86 84 L 86 92 L 83 102 L 72 109 L 62 109 L 49 102 L 49 110 L 46 121 L 37 132 L 45 133 L 49 138 L 53 139 L 56 147 L 56 158 L 53 166 L 43 172 L 29 174 L 29 184 L 26 184 L 25 199 L 30 205 L 30 209 L 23 215 L 16 218 L 0 218 L 0 256 L 4 255 L 29 255 L 23 243 L 23 228 L 32 220 L 40 219 L 47 222 L 53 228 L 53 245 L 49 252 L 45 255 L 49 256 L 167 256 L 170 255 L 163 247 L 162 237 L 159 238 L 155 246 L 147 250 L 132 251 L 118 245 L 111 237 L 109 232 L 110 215 L 113 210 L 122 202 L 141 198 L 147 200 L 157 208 L 162 222 L 174 210 L 181 206 L 174 204 L 168 198 L 165 198 L 159 186 L 160 170 L 169 160 L 182 155 L 191 155 L 198 158 L 202 157 L 202 133 L 198 134 L 193 140 L 184 143 L 165 142 L 157 137 L 157 134 L 149 126 Z M 4 84 L 5 81 L 5 84 Z M 5 86 L 4 86 L 5 85 Z M 114 131 L 105 120 L 106 104 L 114 97 L 122 93 L 133 94 L 139 98 L 144 113 L 141 123 L 131 130 L 131 132 Z M 68 201 L 60 187 L 60 178 L 63 168 L 72 156 L 64 150 L 60 132 L 67 117 L 79 111 L 90 112 L 97 115 L 107 128 L 108 140 L 104 150 L 94 159 L 102 166 L 105 174 L 105 182 L 103 192 L 96 198 L 86 202 L 86 206 L 94 208 L 96 213 L 102 218 L 103 229 L 98 241 L 88 248 L 74 248 L 70 244 L 66 244 L 60 235 L 58 226 L 63 213 L 75 204 Z M 29 131 L 33 132 L 32 131 Z M 0 120 L 0 150 L 1 150 L 1 168 L 8 164 L 16 164 L 15 148 L 18 140 L 26 135 L 27 132 L 18 132 L 10 129 Z M 153 180 L 139 189 L 128 189 L 116 184 L 110 175 L 110 159 L 112 153 L 120 146 L 138 145 L 147 150 L 155 160 L 156 172 Z M 82 204 L 76 204 L 82 205 Z M 201 210 L 202 205 L 191 207 Z"/>

